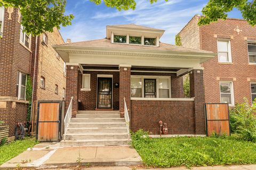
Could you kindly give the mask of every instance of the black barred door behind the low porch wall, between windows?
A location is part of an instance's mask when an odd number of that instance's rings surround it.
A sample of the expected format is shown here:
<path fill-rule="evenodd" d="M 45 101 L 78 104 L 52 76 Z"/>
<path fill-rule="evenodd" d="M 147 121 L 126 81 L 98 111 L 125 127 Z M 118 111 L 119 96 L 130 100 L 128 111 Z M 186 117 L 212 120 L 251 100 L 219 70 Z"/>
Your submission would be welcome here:
<path fill-rule="evenodd" d="M 144 79 L 145 98 L 156 98 L 156 79 Z"/>

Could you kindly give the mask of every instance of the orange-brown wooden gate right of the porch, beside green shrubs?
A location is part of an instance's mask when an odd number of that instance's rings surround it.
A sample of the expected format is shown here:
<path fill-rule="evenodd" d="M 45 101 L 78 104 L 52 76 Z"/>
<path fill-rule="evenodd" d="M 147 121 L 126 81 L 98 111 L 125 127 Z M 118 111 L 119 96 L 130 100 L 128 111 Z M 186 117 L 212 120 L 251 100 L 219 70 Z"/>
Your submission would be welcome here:
<path fill-rule="evenodd" d="M 220 135 L 226 133 L 230 135 L 229 107 L 224 103 L 206 103 L 206 134 L 211 135 L 216 132 Z"/>

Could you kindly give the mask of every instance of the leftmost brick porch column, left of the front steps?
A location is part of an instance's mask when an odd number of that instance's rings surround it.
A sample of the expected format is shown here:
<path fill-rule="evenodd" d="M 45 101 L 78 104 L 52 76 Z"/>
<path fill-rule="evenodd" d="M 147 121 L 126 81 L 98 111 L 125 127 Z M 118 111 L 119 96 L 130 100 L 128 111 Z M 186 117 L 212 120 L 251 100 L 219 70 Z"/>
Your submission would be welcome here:
<path fill-rule="evenodd" d="M 77 85 L 78 85 L 78 65 L 67 65 L 67 79 L 66 79 L 66 102 L 65 113 L 67 112 L 71 97 L 72 102 L 72 117 L 76 117 L 78 102 L 77 102 Z"/>

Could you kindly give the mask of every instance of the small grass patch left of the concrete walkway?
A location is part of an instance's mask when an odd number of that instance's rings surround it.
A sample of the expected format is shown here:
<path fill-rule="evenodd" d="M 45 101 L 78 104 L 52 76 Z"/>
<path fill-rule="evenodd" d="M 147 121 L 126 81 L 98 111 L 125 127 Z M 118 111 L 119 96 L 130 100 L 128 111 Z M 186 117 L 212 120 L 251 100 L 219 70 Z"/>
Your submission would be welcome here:
<path fill-rule="evenodd" d="M 23 151 L 27 150 L 30 147 L 33 147 L 38 142 L 35 138 L 25 138 L 24 140 L 16 140 L 10 143 L 7 143 L 0 147 L 0 165 L 5 163 L 7 160 L 18 156 Z"/>

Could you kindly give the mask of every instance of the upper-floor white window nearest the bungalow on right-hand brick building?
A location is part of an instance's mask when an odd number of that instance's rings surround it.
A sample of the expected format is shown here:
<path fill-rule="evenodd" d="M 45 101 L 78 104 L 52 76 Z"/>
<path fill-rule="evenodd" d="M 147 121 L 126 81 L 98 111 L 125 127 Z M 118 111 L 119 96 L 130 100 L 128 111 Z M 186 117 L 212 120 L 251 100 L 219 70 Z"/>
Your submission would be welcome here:
<path fill-rule="evenodd" d="M 218 40 L 219 62 L 231 63 L 230 41 Z"/>

